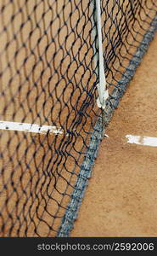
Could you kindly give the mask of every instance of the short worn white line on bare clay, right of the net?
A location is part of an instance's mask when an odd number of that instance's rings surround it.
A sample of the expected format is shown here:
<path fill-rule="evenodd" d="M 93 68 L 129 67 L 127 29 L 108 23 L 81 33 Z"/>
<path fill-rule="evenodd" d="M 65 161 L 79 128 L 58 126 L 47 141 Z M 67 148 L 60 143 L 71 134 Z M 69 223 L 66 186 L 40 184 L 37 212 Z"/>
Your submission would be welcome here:
<path fill-rule="evenodd" d="M 127 143 L 135 143 L 137 145 L 157 147 L 157 137 L 126 135 L 126 138 Z"/>

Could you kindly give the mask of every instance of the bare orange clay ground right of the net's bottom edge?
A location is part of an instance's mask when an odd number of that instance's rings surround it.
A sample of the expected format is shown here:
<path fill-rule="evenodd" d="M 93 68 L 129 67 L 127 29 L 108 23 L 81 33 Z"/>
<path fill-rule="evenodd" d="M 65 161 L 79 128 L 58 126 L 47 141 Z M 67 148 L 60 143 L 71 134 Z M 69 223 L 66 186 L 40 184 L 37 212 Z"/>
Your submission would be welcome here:
<path fill-rule="evenodd" d="M 157 236 L 157 35 L 106 130 L 70 236 Z"/>

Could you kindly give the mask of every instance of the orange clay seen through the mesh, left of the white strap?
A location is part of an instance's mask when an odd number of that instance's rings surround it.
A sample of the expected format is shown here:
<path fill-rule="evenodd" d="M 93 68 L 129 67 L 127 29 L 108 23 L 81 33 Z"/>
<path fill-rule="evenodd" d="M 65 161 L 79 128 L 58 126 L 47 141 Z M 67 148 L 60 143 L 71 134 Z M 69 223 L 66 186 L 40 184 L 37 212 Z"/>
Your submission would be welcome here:
<path fill-rule="evenodd" d="M 79 0 L 0 3 L 2 123 L 71 129 L 87 98 L 81 84 L 89 90 L 94 83 L 93 49 L 88 48 L 92 23 L 82 29 L 89 15 L 87 4 Z M 93 110 L 92 105 L 87 109 L 91 118 Z M 80 152 L 85 150 L 83 138 L 90 120 L 85 123 L 83 131 L 77 125 L 77 141 L 65 132 L 58 137 L 0 132 L 0 236 L 56 235 L 79 172 L 76 160 L 84 157 Z"/>

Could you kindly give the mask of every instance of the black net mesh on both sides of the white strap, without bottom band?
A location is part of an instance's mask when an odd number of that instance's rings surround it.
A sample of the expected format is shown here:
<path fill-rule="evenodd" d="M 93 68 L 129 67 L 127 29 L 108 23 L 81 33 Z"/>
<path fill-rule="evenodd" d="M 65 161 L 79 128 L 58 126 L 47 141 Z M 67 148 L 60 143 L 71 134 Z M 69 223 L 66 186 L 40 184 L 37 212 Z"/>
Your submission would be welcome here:
<path fill-rule="evenodd" d="M 157 14 L 102 0 L 109 94 Z M 57 236 L 98 116 L 95 1 L 0 3 L 0 236 Z"/>

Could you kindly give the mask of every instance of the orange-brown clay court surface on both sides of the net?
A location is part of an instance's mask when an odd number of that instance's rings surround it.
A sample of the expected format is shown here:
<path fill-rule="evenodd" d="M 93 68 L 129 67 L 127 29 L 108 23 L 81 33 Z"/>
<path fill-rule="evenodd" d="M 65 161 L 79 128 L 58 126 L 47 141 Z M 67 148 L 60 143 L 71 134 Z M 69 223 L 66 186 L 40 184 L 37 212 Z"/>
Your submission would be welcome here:
<path fill-rule="evenodd" d="M 18 10 L 23 7 L 25 1 L 14 1 L 14 8 L 7 0 L 3 3 L 7 8 L 3 11 L 3 23 L 0 26 L 0 64 L 3 70 L 3 96 L 0 104 L 2 119 L 37 125 L 55 125 L 57 128 L 62 126 L 64 132 L 55 136 L 53 133 L 41 135 L 1 131 L 3 158 L 0 166 L 5 172 L 0 180 L 0 224 L 6 223 L 4 236 L 8 236 L 10 226 L 11 236 L 24 236 L 25 230 L 27 236 L 55 236 L 80 170 L 77 160 L 79 164 L 83 160 L 84 155 L 79 152 L 85 153 L 84 138 L 87 132 L 91 131 L 93 110 L 98 110 L 92 102 L 87 108 L 90 119 L 82 117 L 76 130 L 77 137 L 70 138 L 68 143 L 66 131 L 71 129 L 76 120 L 76 111 L 81 110 L 87 98 L 87 91 L 91 90 L 96 79 L 91 74 L 93 49 L 89 47 L 93 43 L 93 37 L 89 35 L 92 23 L 87 22 L 82 30 L 92 9 L 88 13 L 87 3 L 81 4 L 80 0 L 74 1 L 75 4 L 70 4 L 69 0 L 59 0 L 58 3 L 53 1 L 53 10 L 49 9 L 51 1 L 39 2 L 40 4 L 36 5 L 37 2 L 34 0 L 25 5 L 23 12 Z M 64 3 L 64 12 L 57 19 L 56 14 L 63 9 Z M 110 1 L 109 11 L 113 3 L 115 1 Z M 76 5 L 79 5 L 79 9 L 76 9 Z M 114 11 L 117 12 L 117 7 Z M 66 20 L 70 12 L 73 26 L 77 20 L 81 20 L 75 32 L 72 32 L 70 20 Z M 14 22 L 10 22 L 13 14 Z M 29 15 L 31 20 L 28 20 Z M 145 17 L 143 13 L 142 15 Z M 121 14 L 118 15 L 118 19 L 122 19 Z M 21 28 L 22 23 L 25 26 Z M 40 26 L 37 27 L 36 24 Z M 3 31 L 5 26 L 8 28 L 7 32 Z M 64 26 L 64 29 L 60 30 L 58 36 L 59 26 Z M 109 26 L 110 23 L 107 23 L 106 27 Z M 145 26 L 147 29 L 148 25 Z M 110 32 L 114 31 L 113 26 Z M 75 41 L 76 36 L 78 39 Z M 139 35 L 138 37 L 140 40 Z M 108 39 L 104 40 L 104 48 Z M 127 39 L 132 44 L 132 37 Z M 157 39 L 155 40 L 157 43 Z M 104 138 L 99 148 L 93 177 L 71 236 L 157 235 L 154 204 L 157 181 L 156 148 L 126 143 L 127 134 L 157 137 L 155 40 L 109 124 L 106 131 L 109 138 Z M 6 42 L 9 42 L 7 48 Z M 130 50 L 128 57 L 134 50 Z M 121 55 L 126 55 L 125 48 L 120 52 Z M 69 55 L 65 56 L 67 53 Z M 26 56 L 29 58 L 25 61 Z M 124 60 L 123 65 L 128 62 Z M 78 63 L 82 64 L 79 68 Z M 115 61 L 114 68 L 119 68 L 122 73 L 124 68 L 119 66 L 120 63 Z M 111 77 L 112 73 L 109 73 L 109 81 Z M 121 79 L 120 73 L 115 74 L 115 77 Z M 78 88 L 75 87 L 76 84 L 79 84 Z M 86 143 L 89 137 L 88 134 Z M 59 148 L 62 141 L 67 141 L 66 148 Z M 64 155 L 60 152 L 64 152 Z M 74 168 L 75 173 L 72 173 Z M 5 189 L 4 184 L 7 184 Z M 48 225 L 53 226 L 53 230 L 49 231 Z"/>

